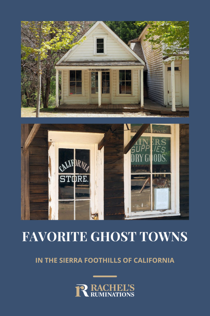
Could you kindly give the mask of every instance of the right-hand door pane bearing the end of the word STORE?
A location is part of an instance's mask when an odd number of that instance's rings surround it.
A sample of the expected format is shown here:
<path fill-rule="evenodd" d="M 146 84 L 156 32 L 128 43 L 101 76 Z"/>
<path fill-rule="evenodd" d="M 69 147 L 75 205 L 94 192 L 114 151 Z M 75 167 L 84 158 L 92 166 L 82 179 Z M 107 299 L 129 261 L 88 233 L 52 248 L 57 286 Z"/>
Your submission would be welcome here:
<path fill-rule="evenodd" d="M 76 200 L 90 197 L 90 176 L 75 176 L 75 198 Z"/>

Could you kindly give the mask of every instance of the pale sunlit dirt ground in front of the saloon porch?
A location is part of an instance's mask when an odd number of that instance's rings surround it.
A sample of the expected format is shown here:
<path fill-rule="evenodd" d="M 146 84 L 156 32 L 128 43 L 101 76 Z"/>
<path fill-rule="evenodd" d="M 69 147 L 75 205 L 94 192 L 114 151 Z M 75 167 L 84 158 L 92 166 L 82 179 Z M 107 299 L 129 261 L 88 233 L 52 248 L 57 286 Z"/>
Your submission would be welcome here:
<path fill-rule="evenodd" d="M 34 118 L 36 117 L 35 108 L 21 108 L 21 117 Z M 173 116 L 173 115 L 156 115 L 148 112 L 128 113 L 128 112 L 54 112 L 54 109 L 41 109 L 41 118 L 134 118 L 134 117 L 187 117 L 187 116 Z"/>

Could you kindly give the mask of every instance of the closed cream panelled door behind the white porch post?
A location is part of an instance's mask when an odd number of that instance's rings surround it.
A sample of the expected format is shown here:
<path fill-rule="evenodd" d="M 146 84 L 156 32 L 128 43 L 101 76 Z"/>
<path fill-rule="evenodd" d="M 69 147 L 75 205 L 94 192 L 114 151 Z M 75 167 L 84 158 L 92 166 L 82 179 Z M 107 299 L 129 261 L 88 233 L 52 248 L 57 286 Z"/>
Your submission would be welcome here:
<path fill-rule="evenodd" d="M 172 106 L 171 71 L 167 72 L 167 104 Z M 181 72 L 175 71 L 175 105 L 182 105 Z"/>

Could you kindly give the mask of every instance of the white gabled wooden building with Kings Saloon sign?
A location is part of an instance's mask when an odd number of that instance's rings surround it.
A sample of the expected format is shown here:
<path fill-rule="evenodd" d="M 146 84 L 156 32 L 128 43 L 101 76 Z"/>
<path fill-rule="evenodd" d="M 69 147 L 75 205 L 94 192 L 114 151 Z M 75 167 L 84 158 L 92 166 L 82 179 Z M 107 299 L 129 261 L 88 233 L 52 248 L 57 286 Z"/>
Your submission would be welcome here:
<path fill-rule="evenodd" d="M 145 62 L 103 21 L 56 64 L 56 107 L 61 105 L 140 104 L 144 107 Z"/>

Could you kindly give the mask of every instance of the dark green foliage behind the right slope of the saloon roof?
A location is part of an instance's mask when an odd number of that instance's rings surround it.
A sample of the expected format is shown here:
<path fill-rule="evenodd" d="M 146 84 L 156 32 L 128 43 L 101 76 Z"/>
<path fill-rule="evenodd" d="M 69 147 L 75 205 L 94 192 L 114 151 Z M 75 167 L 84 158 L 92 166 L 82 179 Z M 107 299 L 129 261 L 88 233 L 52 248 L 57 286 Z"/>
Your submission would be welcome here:
<path fill-rule="evenodd" d="M 134 25 L 137 21 L 104 21 L 126 44 L 129 40 L 139 37 L 144 26 Z M 139 22 L 139 21 L 138 21 Z"/>

